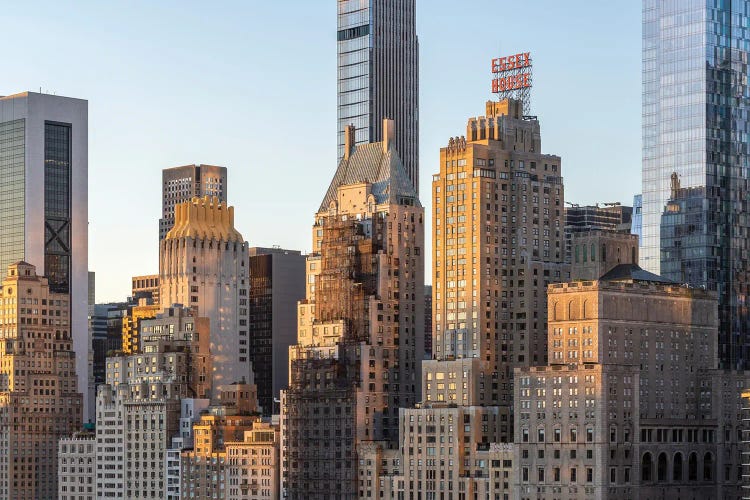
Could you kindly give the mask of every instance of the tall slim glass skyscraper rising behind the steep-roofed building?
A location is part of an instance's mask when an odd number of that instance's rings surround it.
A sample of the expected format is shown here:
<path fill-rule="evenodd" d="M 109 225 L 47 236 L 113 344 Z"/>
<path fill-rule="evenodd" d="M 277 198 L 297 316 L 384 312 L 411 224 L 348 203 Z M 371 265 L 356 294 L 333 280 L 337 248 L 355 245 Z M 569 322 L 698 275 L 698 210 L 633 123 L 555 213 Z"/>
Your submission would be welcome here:
<path fill-rule="evenodd" d="M 338 162 L 344 129 L 356 144 L 383 140 L 394 120 L 396 151 L 415 189 L 419 171 L 419 43 L 416 0 L 338 0 Z"/>

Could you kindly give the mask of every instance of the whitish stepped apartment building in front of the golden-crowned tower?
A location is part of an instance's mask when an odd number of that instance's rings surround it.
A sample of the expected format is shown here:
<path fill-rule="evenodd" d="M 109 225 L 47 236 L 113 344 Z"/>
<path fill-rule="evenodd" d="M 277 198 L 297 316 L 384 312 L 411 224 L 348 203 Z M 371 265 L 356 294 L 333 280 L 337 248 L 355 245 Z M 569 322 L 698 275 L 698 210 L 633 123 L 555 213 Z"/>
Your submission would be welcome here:
<path fill-rule="evenodd" d="M 182 400 L 211 390 L 209 320 L 167 308 L 142 324 L 141 352 L 107 358 L 97 394 L 97 498 L 163 498 Z"/>

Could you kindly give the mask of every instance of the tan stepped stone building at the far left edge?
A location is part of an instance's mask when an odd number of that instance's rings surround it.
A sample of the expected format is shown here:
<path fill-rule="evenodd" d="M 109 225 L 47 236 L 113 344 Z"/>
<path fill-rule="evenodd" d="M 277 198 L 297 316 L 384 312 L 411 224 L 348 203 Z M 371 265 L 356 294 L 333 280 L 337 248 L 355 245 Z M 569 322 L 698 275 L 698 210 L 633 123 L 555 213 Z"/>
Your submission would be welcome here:
<path fill-rule="evenodd" d="M 16 262 L 0 304 L 0 498 L 55 498 L 58 440 L 79 429 L 83 404 L 70 298 Z"/>

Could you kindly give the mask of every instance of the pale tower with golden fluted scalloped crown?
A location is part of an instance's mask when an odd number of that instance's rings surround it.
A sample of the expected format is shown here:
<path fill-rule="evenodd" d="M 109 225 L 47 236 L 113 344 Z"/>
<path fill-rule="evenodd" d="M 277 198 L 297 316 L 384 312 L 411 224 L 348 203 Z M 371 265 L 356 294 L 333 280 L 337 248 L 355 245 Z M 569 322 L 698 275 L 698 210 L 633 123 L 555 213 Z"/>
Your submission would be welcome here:
<path fill-rule="evenodd" d="M 252 383 L 249 286 L 248 247 L 234 228 L 234 207 L 209 197 L 177 205 L 174 227 L 160 243 L 159 297 L 209 319 L 214 388 Z"/>

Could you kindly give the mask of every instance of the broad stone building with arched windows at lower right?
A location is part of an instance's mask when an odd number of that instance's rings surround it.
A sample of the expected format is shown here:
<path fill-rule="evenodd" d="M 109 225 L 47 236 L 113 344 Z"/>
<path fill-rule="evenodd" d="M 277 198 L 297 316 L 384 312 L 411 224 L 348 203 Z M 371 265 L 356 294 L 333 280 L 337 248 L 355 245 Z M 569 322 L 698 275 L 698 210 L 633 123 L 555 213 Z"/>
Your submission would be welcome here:
<path fill-rule="evenodd" d="M 603 274 L 550 285 L 549 363 L 516 370 L 516 498 L 736 498 L 747 374 L 716 369 L 715 294 L 640 269 L 635 237 L 572 244 Z"/>

